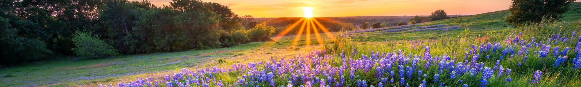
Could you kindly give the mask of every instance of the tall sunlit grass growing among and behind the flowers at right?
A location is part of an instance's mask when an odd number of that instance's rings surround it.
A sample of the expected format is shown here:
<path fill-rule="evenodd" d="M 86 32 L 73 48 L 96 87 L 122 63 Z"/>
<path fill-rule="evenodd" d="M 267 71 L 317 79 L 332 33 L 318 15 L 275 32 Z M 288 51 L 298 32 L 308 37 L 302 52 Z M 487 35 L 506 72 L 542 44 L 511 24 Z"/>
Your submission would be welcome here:
<path fill-rule="evenodd" d="M 579 32 L 580 28 L 578 27 L 565 27 L 566 25 L 579 25 L 579 24 L 568 24 L 565 21 L 555 21 L 555 20 L 543 20 L 541 23 L 530 24 L 528 26 L 519 27 L 519 28 L 506 28 L 501 31 L 490 31 L 483 36 L 473 36 L 469 34 L 469 30 L 464 36 L 443 36 L 439 39 L 419 39 L 417 41 L 397 41 L 397 42 L 383 42 L 380 44 L 366 44 L 366 42 L 357 42 L 353 41 L 352 39 L 346 37 L 339 37 L 342 38 L 339 40 L 340 42 L 331 43 L 325 45 L 325 50 L 327 53 L 337 53 L 337 52 L 356 52 L 356 53 L 346 53 L 345 55 L 351 56 L 353 59 L 360 59 L 361 55 L 372 55 L 372 52 L 397 52 L 401 50 L 404 54 L 411 53 L 414 55 L 421 56 L 422 53 L 425 52 L 425 46 L 431 47 L 431 55 L 432 56 L 450 56 L 456 62 L 468 62 L 471 61 L 471 57 L 474 55 L 465 56 L 465 52 L 469 52 L 472 49 L 472 46 L 475 45 L 477 48 L 481 47 L 480 45 L 486 45 L 489 42 L 495 44 L 500 42 L 502 48 L 500 51 L 497 50 L 496 52 L 478 52 L 481 54 L 480 57 L 490 56 L 489 59 L 478 60 L 479 62 L 485 63 L 484 65 L 487 67 L 495 66 L 497 60 L 499 60 L 500 56 L 504 57 L 504 60 L 500 60 L 500 65 L 504 68 L 511 68 L 512 73 L 510 76 L 512 78 L 512 82 L 506 82 L 506 78 L 494 78 L 489 79 L 488 86 L 534 86 L 531 84 L 531 80 L 533 79 L 533 73 L 537 70 L 541 70 L 543 75 L 539 86 L 581 86 L 578 82 L 581 82 L 581 71 L 579 69 L 573 68 L 572 62 L 573 59 L 576 57 L 581 57 L 581 55 L 577 55 L 575 51 L 575 46 L 577 45 L 579 34 L 573 34 L 574 32 Z M 519 33 L 522 33 L 519 35 Z M 568 38 L 566 42 L 560 41 L 558 44 L 555 44 L 553 40 L 547 39 L 555 39 L 554 35 L 561 35 L 561 37 Z M 542 41 L 543 44 L 547 44 L 550 42 L 551 45 L 550 50 L 552 51 L 554 47 L 560 47 L 560 50 L 563 50 L 567 47 L 570 47 L 571 50 L 568 50 L 566 56 L 568 56 L 567 60 L 565 61 L 562 66 L 554 66 L 555 59 L 557 57 L 550 55 L 548 57 L 539 57 L 539 46 L 532 46 L 531 48 L 526 48 L 529 50 L 529 53 L 523 55 L 510 55 L 510 54 L 501 54 L 501 51 L 512 46 L 515 51 L 521 49 L 521 46 L 518 42 L 515 44 L 507 43 L 507 39 L 514 39 L 515 37 L 519 37 L 523 41 L 531 42 L 534 40 L 533 45 L 535 42 Z M 532 39 L 534 37 L 534 39 Z M 558 37 L 560 38 L 560 37 Z M 562 39 L 562 38 L 560 38 Z M 526 43 L 524 44 L 526 45 Z M 542 45 L 542 44 L 539 44 Z M 515 52 L 516 53 L 516 52 Z M 551 54 L 553 52 L 549 52 Z M 523 60 L 524 57 L 528 57 Z M 565 56 L 565 55 L 558 55 L 558 56 Z M 421 60 L 426 61 L 426 60 Z M 521 66 L 518 66 L 518 63 L 522 63 Z M 428 69 L 430 70 L 430 69 Z M 434 71 L 434 70 L 430 70 Z M 444 71 L 446 72 L 446 71 Z M 496 73 L 496 72 L 495 72 Z M 447 75 L 445 73 L 440 75 Z M 429 75 L 428 75 L 429 76 Z M 441 78 L 442 76 L 440 76 Z M 475 86 L 478 85 L 479 78 L 472 78 L 462 76 L 464 82 L 468 82 L 468 85 Z M 421 82 L 421 79 L 417 79 L 411 82 Z M 458 84 L 458 80 L 448 79 L 443 80 L 444 84 Z M 437 83 L 436 83 L 437 84 Z M 461 86 L 461 85 L 456 85 Z"/>

